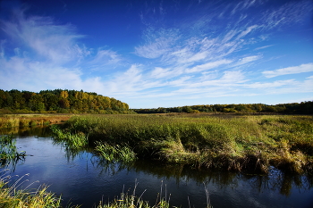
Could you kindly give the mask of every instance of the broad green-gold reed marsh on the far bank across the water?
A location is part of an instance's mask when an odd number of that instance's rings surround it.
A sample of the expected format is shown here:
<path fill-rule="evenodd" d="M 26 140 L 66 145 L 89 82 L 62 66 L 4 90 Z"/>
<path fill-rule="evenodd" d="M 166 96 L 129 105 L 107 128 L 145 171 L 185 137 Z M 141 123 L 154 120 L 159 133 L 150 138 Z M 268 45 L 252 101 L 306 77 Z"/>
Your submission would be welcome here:
<path fill-rule="evenodd" d="M 128 146 L 136 157 L 228 171 L 313 169 L 313 117 L 297 115 L 87 115 L 64 131 L 89 145 Z M 104 150 L 104 148 L 102 148 Z M 107 151 L 99 151 L 107 154 Z"/>

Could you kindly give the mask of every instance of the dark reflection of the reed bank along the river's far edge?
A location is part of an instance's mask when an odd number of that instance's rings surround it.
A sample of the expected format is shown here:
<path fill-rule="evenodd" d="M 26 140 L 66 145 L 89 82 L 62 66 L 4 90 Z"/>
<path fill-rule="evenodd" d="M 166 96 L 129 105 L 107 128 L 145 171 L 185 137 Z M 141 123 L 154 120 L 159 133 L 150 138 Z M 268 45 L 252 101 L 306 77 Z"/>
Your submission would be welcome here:
<path fill-rule="evenodd" d="M 241 181 L 246 181 L 251 187 L 258 190 L 259 193 L 265 191 L 276 191 L 283 196 L 290 196 L 292 188 L 309 190 L 313 187 L 313 177 L 308 174 L 291 174 L 278 171 L 274 168 L 266 175 L 243 174 L 233 171 L 216 171 L 195 169 L 182 164 L 168 164 L 150 160 L 138 160 L 135 162 L 107 162 L 105 159 L 97 157 L 91 149 L 69 150 L 66 149 L 67 160 L 74 160 L 75 157 L 83 153 L 90 153 L 90 162 L 93 166 L 101 169 L 99 174 L 114 175 L 121 171 L 135 171 L 138 173 L 147 173 L 162 179 L 175 179 L 176 185 L 186 183 L 190 180 L 196 181 L 198 185 L 203 183 L 214 184 L 220 189 L 225 187 L 238 187 Z"/>

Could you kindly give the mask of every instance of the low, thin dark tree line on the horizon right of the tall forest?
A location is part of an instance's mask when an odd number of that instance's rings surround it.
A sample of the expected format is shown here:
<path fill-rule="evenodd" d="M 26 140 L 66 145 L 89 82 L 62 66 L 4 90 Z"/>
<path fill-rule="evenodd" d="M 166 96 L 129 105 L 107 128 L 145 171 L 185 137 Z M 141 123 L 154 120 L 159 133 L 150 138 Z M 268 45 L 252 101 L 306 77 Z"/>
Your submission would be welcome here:
<path fill-rule="evenodd" d="M 292 104 L 201 104 L 182 107 L 170 108 L 150 108 L 150 109 L 132 109 L 137 113 L 168 113 L 168 112 L 238 112 L 238 113 L 253 113 L 253 112 L 271 112 L 271 113 L 300 113 L 312 114 L 313 101 L 306 101 Z"/>

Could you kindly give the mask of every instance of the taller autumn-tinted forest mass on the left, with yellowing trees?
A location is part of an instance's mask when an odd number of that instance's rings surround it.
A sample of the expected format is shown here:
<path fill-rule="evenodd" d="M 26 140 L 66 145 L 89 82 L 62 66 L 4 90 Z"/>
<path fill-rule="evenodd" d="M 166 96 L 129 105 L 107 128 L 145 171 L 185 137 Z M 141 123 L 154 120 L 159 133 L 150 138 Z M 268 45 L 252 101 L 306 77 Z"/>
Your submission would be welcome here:
<path fill-rule="evenodd" d="M 39 93 L 0 89 L 0 113 L 129 113 L 129 106 L 113 97 L 82 90 L 42 90 Z"/>

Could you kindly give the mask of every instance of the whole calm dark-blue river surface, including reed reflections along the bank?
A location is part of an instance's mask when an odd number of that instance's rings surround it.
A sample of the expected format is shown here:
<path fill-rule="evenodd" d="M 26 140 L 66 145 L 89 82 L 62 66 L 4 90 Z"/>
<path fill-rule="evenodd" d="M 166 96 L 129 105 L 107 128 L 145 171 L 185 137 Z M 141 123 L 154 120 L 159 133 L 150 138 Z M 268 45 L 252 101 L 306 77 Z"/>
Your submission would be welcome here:
<path fill-rule="evenodd" d="M 16 133 L 16 132 L 15 132 Z M 47 129 L 21 130 L 16 146 L 26 151 L 25 161 L 9 165 L 12 175 L 22 175 L 31 185 L 50 185 L 49 191 L 63 196 L 63 204 L 95 207 L 127 190 L 154 204 L 158 193 L 182 207 L 206 207 L 209 193 L 215 207 L 313 207 L 313 179 L 272 171 L 268 176 L 218 171 L 197 171 L 182 166 L 139 161 L 131 166 L 107 163 L 91 151 L 69 153 L 55 145 Z M 4 168 L 3 168 L 4 169 Z M 13 177 L 18 179 L 18 177 Z M 25 185 L 26 186 L 26 185 Z"/>

